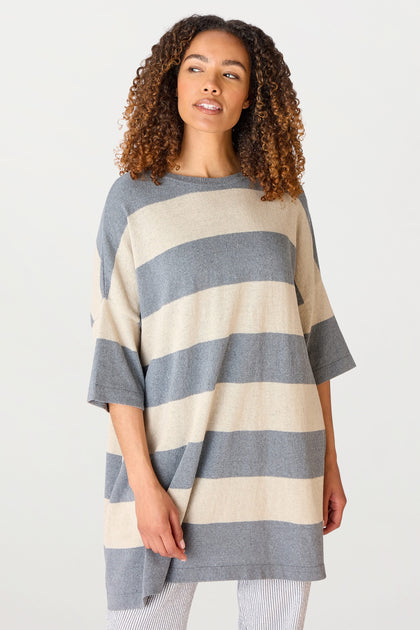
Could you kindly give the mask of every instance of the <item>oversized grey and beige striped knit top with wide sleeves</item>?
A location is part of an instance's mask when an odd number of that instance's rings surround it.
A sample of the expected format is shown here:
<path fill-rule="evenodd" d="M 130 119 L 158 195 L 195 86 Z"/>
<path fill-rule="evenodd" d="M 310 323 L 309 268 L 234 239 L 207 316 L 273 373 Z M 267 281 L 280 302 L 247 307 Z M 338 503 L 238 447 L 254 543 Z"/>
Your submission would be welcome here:
<path fill-rule="evenodd" d="M 88 402 L 143 409 L 187 561 L 143 545 L 108 415 L 108 608 L 169 582 L 326 577 L 316 385 L 355 367 L 321 279 L 305 194 L 261 201 L 242 173 L 129 173 L 95 250 Z"/>

